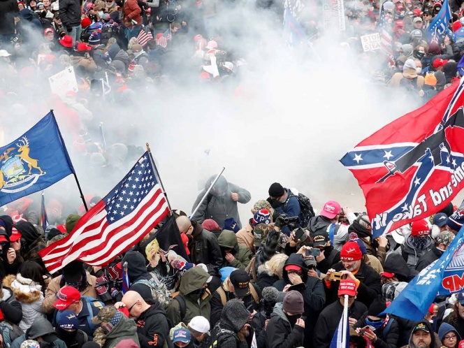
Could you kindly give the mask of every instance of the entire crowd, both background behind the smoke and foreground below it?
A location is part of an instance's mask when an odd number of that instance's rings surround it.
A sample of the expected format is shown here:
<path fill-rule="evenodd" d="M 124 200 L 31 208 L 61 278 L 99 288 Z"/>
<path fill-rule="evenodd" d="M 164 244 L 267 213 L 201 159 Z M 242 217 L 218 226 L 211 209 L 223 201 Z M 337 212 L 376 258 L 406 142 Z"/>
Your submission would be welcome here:
<path fill-rule="evenodd" d="M 346 43 L 356 50 L 349 38 L 379 31 L 383 6 L 393 61 L 382 50 L 356 54 L 379 63 L 372 66 L 386 88 L 425 103 L 458 81 L 464 54 L 460 0 L 449 1 L 446 34 L 427 31 L 442 5 L 347 0 Z M 239 93 L 246 52 L 228 49 L 237 37 L 218 20 L 237 6 L 224 0 L 0 0 L 0 100 L 12 105 L 13 116 L 1 120 L 1 129 L 29 120 L 41 103 L 56 110 L 62 131 L 73 138 L 73 156 L 99 168 L 102 175 L 89 174 L 94 182 L 124 173 L 140 154 L 130 145 L 136 129 L 107 134 L 108 146 L 96 141 L 106 102 L 133 112 L 136 96 L 179 74 Z M 258 1 L 254 10 L 282 14 L 280 7 Z M 304 9 L 293 15 L 307 38 L 324 36 L 318 15 Z M 37 88 L 71 66 L 77 90 L 57 95 Z M 214 178 L 192 202 L 192 212 L 198 207 L 192 217 L 172 212 L 188 255 L 182 266 L 172 250 L 159 249 L 152 259 L 142 240 L 102 267 L 75 260 L 50 274 L 38 252 L 72 233 L 84 207 L 52 198 L 42 226 L 36 196 L 8 203 L 0 216 L 0 345 L 328 348 L 347 300 L 350 347 L 464 347 L 464 293 L 436 298 L 419 322 L 384 314 L 454 240 L 464 224 L 457 208 L 448 205 L 374 238 L 365 212 L 342 207 L 336 197 L 314 210 L 304 194 L 277 182 L 252 201 L 247 189 L 221 176 L 202 200 Z M 89 207 L 101 200 L 85 199 Z M 238 203 L 250 201 L 256 202 L 252 211 L 240 219 Z"/>

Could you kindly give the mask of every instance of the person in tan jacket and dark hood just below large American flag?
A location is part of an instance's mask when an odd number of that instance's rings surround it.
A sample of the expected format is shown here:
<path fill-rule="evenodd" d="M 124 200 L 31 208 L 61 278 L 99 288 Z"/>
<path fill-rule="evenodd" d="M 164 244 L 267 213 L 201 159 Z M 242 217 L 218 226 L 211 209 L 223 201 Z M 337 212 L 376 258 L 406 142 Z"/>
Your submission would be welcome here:
<path fill-rule="evenodd" d="M 57 300 L 57 293 L 65 285 L 78 289 L 81 296 L 97 298 L 96 277 L 85 270 L 82 261 L 72 261 L 64 266 L 63 275 L 53 278 L 48 284 L 42 303 L 45 314 L 51 314 L 55 310 L 53 305 Z"/>

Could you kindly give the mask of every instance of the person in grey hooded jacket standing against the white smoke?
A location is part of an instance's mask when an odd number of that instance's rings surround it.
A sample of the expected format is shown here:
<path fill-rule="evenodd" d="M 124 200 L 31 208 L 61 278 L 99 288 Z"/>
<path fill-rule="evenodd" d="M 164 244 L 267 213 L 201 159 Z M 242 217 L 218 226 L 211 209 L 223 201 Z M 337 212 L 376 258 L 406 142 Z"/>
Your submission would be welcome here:
<path fill-rule="evenodd" d="M 203 198 L 214 180 L 215 176 L 210 177 L 205 183 L 205 189 L 198 194 L 192 211 L 198 204 L 201 204 L 195 215 L 191 218 L 200 224 L 205 219 L 213 219 L 219 226 L 223 226 L 226 219 L 233 217 L 238 226 L 241 227 L 242 223 L 238 215 L 237 203 L 248 203 L 252 195 L 246 189 L 227 182 L 226 178 L 221 175 L 208 196 L 201 202 L 201 198 Z"/>

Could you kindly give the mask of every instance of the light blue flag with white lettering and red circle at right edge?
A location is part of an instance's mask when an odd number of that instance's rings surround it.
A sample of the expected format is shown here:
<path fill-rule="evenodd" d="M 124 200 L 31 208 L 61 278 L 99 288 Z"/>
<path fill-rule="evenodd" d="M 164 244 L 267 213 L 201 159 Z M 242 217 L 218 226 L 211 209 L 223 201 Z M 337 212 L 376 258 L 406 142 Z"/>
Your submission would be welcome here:
<path fill-rule="evenodd" d="M 460 209 L 454 215 L 463 217 Z M 436 296 L 446 296 L 464 289 L 464 228 L 458 232 L 440 259 L 423 269 L 407 284 L 384 314 L 410 320 L 422 320 Z"/>

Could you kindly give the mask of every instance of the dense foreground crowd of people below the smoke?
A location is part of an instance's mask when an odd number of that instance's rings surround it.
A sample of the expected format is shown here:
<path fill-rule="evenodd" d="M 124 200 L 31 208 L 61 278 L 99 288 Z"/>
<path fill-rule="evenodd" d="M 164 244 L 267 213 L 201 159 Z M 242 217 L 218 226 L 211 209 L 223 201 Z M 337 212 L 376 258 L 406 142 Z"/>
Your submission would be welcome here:
<path fill-rule="evenodd" d="M 337 201 L 316 215 L 296 189 L 275 182 L 266 196 L 243 220 L 238 204 L 251 200 L 249 191 L 222 176 L 210 179 L 194 217 L 171 212 L 177 227 L 171 233 L 180 234 L 188 259 L 172 247 L 152 252 L 150 233 L 108 265 L 75 260 L 53 275 L 38 252 L 72 233 L 82 212 L 55 214 L 44 231 L 37 202 L 8 204 L 0 216 L 0 342 L 7 348 L 331 347 L 347 300 L 350 347 L 464 345 L 464 293 L 436 298 L 419 322 L 384 314 L 451 245 L 464 224 L 460 210 L 450 204 L 373 238 L 368 216 Z"/>

